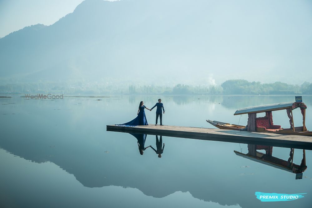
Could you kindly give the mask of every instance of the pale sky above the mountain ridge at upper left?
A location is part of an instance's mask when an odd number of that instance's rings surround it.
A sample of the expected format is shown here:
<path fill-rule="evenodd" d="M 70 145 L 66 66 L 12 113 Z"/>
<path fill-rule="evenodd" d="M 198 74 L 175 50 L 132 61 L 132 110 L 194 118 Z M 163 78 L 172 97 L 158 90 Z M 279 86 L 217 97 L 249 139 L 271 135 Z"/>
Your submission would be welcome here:
<path fill-rule="evenodd" d="M 0 0 L 0 37 L 38 23 L 51 25 L 73 12 L 82 1 Z"/>

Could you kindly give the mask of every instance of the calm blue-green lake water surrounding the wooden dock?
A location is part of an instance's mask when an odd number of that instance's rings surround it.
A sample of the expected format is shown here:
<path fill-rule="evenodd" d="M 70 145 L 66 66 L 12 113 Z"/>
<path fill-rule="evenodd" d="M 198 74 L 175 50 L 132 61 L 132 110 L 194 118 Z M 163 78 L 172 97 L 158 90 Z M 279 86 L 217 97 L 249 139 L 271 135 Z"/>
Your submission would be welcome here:
<path fill-rule="evenodd" d="M 206 119 L 246 125 L 239 108 L 292 102 L 295 96 L 120 95 L 35 100 L 0 98 L 0 207 L 311 207 L 312 151 L 306 150 L 303 178 L 238 156 L 247 144 L 162 137 L 161 158 L 148 148 L 140 155 L 129 133 L 106 125 L 136 117 L 139 102 L 151 108 L 162 99 L 163 124 L 213 128 Z M 100 100 L 97 100 L 100 99 Z M 306 126 L 312 129 L 312 96 Z M 154 123 L 155 109 L 146 111 Z M 274 124 L 289 128 L 286 110 L 273 112 Z M 299 109 L 295 126 L 302 126 Z M 156 148 L 147 135 L 145 147 Z M 265 152 L 258 150 L 258 152 Z M 290 148 L 273 147 L 287 161 Z M 303 151 L 295 149 L 300 165 Z M 294 201 L 261 202 L 255 192 L 307 193 Z"/>

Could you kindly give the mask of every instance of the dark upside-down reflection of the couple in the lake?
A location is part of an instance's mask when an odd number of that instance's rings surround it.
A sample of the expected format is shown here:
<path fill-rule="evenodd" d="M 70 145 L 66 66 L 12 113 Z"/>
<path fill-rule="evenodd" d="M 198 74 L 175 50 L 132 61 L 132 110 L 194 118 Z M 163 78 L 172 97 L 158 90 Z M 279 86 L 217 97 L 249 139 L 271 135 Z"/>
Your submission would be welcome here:
<path fill-rule="evenodd" d="M 135 138 L 137 138 L 139 152 L 141 155 L 143 155 L 144 150 L 150 147 L 156 152 L 156 154 L 158 154 L 159 158 L 161 157 L 161 154 L 163 153 L 163 149 L 165 148 L 165 143 L 163 143 L 162 136 L 160 136 L 160 139 L 158 139 L 158 136 L 156 135 L 156 149 L 154 149 L 151 145 L 148 147 L 144 147 L 147 134 L 139 134 L 139 133 L 130 133 L 130 134 L 133 135 Z"/>

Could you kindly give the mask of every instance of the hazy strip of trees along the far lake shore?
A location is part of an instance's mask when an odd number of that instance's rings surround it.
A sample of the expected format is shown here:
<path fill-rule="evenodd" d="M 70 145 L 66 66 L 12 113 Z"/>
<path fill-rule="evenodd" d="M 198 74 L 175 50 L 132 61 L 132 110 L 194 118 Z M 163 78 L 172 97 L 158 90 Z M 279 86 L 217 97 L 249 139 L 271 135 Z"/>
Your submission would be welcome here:
<path fill-rule="evenodd" d="M 0 86 L 1 93 L 54 92 L 66 94 L 312 94 L 312 83 L 291 85 L 227 80 L 221 85 L 134 85 L 127 83 L 39 82 Z"/>

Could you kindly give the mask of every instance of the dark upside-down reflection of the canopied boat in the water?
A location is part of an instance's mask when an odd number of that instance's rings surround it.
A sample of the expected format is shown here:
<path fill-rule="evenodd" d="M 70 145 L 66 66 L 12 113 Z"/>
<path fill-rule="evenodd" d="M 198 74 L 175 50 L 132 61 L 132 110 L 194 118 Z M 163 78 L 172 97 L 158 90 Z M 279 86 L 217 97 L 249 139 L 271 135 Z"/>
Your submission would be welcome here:
<path fill-rule="evenodd" d="M 257 150 L 265 150 L 266 153 L 258 152 Z M 264 145 L 254 145 L 248 144 L 248 153 L 244 154 L 242 152 L 235 151 L 238 156 L 246 157 L 250 160 L 263 163 L 275 168 L 279 168 L 288 172 L 296 173 L 296 179 L 302 179 L 302 172 L 307 169 L 305 160 L 305 150 L 303 150 L 303 157 L 300 165 L 293 163 L 294 161 L 294 148 L 290 148 L 290 157 L 288 160 L 283 160 L 272 156 L 273 147 Z"/>

